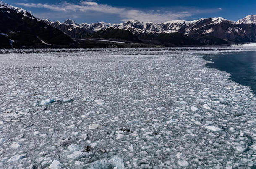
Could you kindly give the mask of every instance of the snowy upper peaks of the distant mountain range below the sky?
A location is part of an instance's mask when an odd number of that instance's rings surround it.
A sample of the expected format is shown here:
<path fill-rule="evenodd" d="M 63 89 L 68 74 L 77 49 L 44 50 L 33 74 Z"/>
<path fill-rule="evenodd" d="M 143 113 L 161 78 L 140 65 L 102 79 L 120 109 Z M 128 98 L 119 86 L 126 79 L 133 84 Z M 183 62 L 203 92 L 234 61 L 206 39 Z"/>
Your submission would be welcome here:
<path fill-rule="evenodd" d="M 227 27 L 226 33 L 242 33 L 244 30 L 239 27 L 240 24 L 256 24 L 256 15 L 249 15 L 246 18 L 241 20 L 230 21 L 221 17 L 218 18 L 203 18 L 199 20 L 193 21 L 185 21 L 185 20 L 171 20 L 164 23 L 153 23 L 153 22 L 141 22 L 137 20 L 131 20 L 125 23 L 120 24 L 111 24 L 111 23 L 82 23 L 78 24 L 75 21 L 68 19 L 64 23 L 59 21 L 52 22 L 48 19 L 44 20 L 46 23 L 53 25 L 55 28 L 63 30 L 64 33 L 68 34 L 73 29 L 83 29 L 87 33 L 94 33 L 99 30 L 104 30 L 109 27 L 118 28 L 129 30 L 133 34 L 140 34 L 140 33 L 175 33 L 180 32 L 185 35 L 191 35 L 195 33 L 199 34 L 210 34 L 214 33 L 215 25 L 230 25 Z M 68 29 L 65 29 L 66 27 Z M 203 31 L 202 31 L 203 28 Z M 73 37 L 75 38 L 75 37 Z M 80 37 L 81 38 L 81 37 Z"/>

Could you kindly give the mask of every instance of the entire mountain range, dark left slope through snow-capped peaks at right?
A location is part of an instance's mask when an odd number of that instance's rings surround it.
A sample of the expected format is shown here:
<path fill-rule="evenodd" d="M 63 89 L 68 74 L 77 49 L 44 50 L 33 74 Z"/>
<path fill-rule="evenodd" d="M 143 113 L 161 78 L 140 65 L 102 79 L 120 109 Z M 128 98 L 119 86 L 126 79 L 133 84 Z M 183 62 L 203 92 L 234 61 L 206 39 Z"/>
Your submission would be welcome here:
<path fill-rule="evenodd" d="M 63 23 L 40 20 L 22 8 L 0 1 L 0 46 L 81 45 L 85 42 L 74 42 L 71 38 L 165 46 L 255 42 L 256 15 L 249 15 L 237 22 L 218 17 L 193 21 L 171 20 L 164 23 L 131 20 L 120 24 L 78 24 L 70 19 Z"/>

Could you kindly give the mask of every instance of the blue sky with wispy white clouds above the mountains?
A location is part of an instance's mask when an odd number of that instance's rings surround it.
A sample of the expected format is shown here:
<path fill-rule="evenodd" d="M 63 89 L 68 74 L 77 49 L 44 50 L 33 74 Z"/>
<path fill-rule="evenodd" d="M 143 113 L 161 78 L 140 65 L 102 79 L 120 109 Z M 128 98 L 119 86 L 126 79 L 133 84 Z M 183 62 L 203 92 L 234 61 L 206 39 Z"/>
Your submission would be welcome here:
<path fill-rule="evenodd" d="M 77 23 L 122 23 L 128 20 L 196 20 L 223 17 L 242 19 L 256 14 L 256 0 L 4 0 L 31 11 L 40 19 L 71 18 Z"/>

